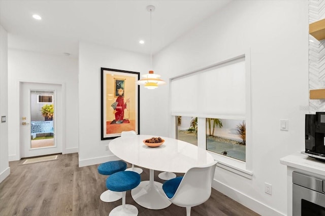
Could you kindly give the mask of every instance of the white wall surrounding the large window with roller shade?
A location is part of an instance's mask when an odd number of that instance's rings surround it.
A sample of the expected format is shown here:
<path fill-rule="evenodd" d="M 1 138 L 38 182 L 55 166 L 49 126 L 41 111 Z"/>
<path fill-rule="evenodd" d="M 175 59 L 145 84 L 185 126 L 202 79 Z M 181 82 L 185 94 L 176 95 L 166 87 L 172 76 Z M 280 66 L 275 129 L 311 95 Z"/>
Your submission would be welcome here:
<path fill-rule="evenodd" d="M 262 215 L 286 214 L 286 167 L 279 159 L 304 149 L 308 105 L 308 1 L 234 1 L 155 55 L 163 79 L 251 53 L 252 179 L 217 168 L 214 187 Z M 164 131 L 174 122 L 168 91 L 152 103 Z M 202 95 L 204 97 L 204 95 Z M 206 98 L 211 99 L 211 98 Z M 280 119 L 289 130 L 280 131 Z M 172 136 L 173 132 L 169 133 Z M 272 195 L 264 184 L 272 184 Z M 216 203 L 217 204 L 217 203 Z"/>

